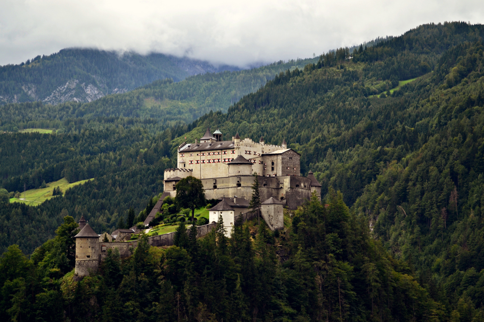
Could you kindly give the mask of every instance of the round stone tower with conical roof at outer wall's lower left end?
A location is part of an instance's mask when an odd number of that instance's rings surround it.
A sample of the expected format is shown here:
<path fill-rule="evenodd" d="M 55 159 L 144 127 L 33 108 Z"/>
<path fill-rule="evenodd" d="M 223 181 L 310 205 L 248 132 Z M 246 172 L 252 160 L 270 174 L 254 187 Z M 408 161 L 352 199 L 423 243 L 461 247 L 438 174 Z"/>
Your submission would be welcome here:
<path fill-rule="evenodd" d="M 90 271 L 95 272 L 99 267 L 99 235 L 89 224 L 85 224 L 74 238 L 76 238 L 75 274 L 88 276 Z"/>

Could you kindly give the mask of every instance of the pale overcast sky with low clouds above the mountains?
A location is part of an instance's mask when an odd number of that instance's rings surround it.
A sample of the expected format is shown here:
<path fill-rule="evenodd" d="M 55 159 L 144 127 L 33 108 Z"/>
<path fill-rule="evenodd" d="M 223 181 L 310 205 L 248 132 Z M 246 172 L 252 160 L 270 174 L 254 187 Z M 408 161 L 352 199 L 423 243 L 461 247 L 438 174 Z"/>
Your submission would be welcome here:
<path fill-rule="evenodd" d="M 245 66 L 310 57 L 429 22 L 484 23 L 483 0 L 1 0 L 0 65 L 66 47 Z"/>

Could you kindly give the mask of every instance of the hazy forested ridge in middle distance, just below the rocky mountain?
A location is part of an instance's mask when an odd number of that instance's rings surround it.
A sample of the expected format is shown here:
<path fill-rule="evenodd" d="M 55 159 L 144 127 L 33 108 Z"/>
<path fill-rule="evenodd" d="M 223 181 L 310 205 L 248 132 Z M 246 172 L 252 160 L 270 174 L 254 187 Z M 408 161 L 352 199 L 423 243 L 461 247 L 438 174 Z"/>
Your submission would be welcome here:
<path fill-rule="evenodd" d="M 257 91 L 281 71 L 302 68 L 316 60 L 278 61 L 251 70 L 191 76 L 181 82 L 158 80 L 131 92 L 107 95 L 89 103 L 5 104 L 0 109 L 0 130 L 45 127 L 69 132 L 79 125 L 102 128 L 106 123 L 141 122 L 155 124 L 149 129 L 156 134 L 169 127 L 191 123 L 210 111 L 227 112 L 229 106 Z"/>

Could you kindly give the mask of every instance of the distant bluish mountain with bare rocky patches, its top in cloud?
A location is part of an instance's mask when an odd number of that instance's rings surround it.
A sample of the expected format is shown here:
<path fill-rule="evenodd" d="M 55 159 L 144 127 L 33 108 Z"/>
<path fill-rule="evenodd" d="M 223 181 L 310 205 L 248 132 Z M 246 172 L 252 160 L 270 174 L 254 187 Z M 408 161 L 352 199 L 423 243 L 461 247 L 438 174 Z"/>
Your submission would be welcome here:
<path fill-rule="evenodd" d="M 91 102 L 160 79 L 179 82 L 188 76 L 225 70 L 240 68 L 216 67 L 207 61 L 164 54 L 62 49 L 50 56 L 39 55 L 32 61 L 0 67 L 0 104 Z"/>

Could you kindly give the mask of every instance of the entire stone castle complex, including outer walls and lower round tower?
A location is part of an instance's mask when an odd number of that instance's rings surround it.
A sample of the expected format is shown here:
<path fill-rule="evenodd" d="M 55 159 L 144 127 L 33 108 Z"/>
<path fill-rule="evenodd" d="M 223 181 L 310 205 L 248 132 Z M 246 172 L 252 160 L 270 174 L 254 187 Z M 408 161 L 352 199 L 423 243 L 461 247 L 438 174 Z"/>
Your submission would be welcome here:
<path fill-rule="evenodd" d="M 222 216 L 226 234 L 229 237 L 237 218 L 248 220 L 260 215 L 271 230 L 284 228 L 283 207 L 296 209 L 308 200 L 312 193 L 320 198 L 321 184 L 312 172 L 307 177 L 301 176 L 300 154 L 282 145 L 265 144 L 261 137 L 259 142 L 251 139 L 241 140 L 237 133 L 232 140 L 222 140 L 222 133 L 217 129 L 212 134 L 207 128 L 205 135 L 195 143 L 183 142 L 178 147 L 178 168 L 165 170 L 164 193 L 145 220 L 148 226 L 161 208 L 166 196 L 176 196 L 176 184 L 182 178 L 194 176 L 200 179 L 207 199 L 218 199 L 220 202 L 209 209 L 209 222 L 197 226 L 197 237 L 208 234 L 218 218 Z M 257 173 L 259 196 L 262 201 L 259 209 L 249 210 L 252 198 L 253 174 Z M 76 238 L 77 276 L 89 275 L 97 271 L 108 249 L 117 248 L 121 257 L 131 255 L 137 241 L 120 241 L 136 231 L 118 229 L 111 235 L 98 235 L 81 216 L 80 232 Z M 152 246 L 173 245 L 174 233 L 152 236 Z M 112 241 L 115 238 L 116 241 Z M 107 241 L 106 241 L 107 239 Z"/>

